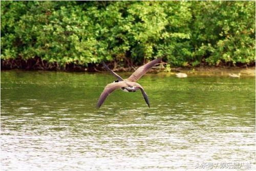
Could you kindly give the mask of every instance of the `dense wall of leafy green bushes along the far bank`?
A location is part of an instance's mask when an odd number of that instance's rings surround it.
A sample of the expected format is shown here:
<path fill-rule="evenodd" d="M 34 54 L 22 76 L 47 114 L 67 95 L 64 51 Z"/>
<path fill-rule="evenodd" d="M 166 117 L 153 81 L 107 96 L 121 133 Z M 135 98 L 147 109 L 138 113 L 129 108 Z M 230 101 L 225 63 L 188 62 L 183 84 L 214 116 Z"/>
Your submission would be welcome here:
<path fill-rule="evenodd" d="M 87 66 L 164 54 L 173 66 L 253 63 L 255 2 L 1 2 L 1 60 Z"/>

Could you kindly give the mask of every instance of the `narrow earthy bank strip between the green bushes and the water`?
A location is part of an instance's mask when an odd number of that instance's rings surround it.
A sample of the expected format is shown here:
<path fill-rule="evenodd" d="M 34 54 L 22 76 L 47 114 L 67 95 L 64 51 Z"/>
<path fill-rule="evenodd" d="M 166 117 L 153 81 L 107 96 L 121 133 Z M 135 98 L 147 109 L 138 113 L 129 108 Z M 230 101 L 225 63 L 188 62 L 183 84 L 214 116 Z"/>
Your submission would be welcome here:
<path fill-rule="evenodd" d="M 117 63 L 109 62 L 109 67 L 115 72 L 134 72 L 139 66 L 133 63 Z M 89 63 L 88 66 L 76 65 L 74 63 L 66 64 L 65 66 L 59 66 L 58 63 L 49 63 L 41 60 L 40 58 L 32 58 L 29 60 L 23 59 L 8 59 L 1 60 L 1 70 L 26 70 L 26 71 L 66 71 L 66 72 L 105 72 L 104 67 L 101 64 Z M 185 72 L 188 74 L 196 75 L 215 75 L 215 74 L 227 74 L 227 73 L 241 73 L 242 75 L 255 76 L 255 63 L 251 66 L 241 65 L 237 66 L 221 66 L 221 67 L 167 67 L 166 62 L 161 62 L 159 65 L 153 67 L 149 72 Z M 228 75 L 228 74 L 227 74 Z"/>

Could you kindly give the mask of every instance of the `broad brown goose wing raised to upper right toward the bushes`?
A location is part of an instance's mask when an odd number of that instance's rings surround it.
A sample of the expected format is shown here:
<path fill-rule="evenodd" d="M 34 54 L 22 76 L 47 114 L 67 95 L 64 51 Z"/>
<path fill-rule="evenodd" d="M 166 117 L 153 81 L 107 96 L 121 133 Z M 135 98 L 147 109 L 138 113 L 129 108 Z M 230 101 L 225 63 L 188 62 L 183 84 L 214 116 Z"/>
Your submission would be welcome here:
<path fill-rule="evenodd" d="M 144 66 L 141 66 L 140 68 L 138 68 L 129 78 L 127 78 L 126 80 L 129 81 L 137 81 L 138 79 L 140 79 L 149 69 L 151 69 L 154 65 L 156 65 L 158 62 L 161 61 L 162 58 L 157 58 L 154 59 L 148 63 L 146 63 Z"/>

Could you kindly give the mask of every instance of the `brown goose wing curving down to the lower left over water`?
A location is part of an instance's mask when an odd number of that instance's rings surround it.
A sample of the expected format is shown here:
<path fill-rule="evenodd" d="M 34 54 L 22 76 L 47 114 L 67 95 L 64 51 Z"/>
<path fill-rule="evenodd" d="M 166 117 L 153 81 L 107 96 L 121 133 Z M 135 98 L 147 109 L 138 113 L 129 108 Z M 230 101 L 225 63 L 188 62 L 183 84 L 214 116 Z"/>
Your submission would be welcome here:
<path fill-rule="evenodd" d="M 127 84 L 124 81 L 120 82 L 113 82 L 108 85 L 106 85 L 105 89 L 101 93 L 99 100 L 97 102 L 96 108 L 99 109 L 101 104 L 105 101 L 106 97 L 113 91 L 115 91 L 118 88 L 127 87 Z"/>

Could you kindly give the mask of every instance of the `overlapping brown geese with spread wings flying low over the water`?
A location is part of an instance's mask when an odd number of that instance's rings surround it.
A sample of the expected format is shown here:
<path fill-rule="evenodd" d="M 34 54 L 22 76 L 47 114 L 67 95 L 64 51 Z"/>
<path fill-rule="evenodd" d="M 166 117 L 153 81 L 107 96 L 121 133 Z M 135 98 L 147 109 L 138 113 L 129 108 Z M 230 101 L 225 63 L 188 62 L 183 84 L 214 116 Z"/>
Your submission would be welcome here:
<path fill-rule="evenodd" d="M 145 65 L 139 67 L 129 78 L 126 79 L 123 79 L 122 77 L 117 75 L 114 71 L 109 69 L 109 67 L 106 66 L 106 64 L 103 62 L 103 66 L 105 67 L 105 69 L 110 71 L 117 78 L 117 80 L 113 83 L 106 85 L 105 89 L 99 97 L 96 108 L 99 109 L 102 103 L 105 101 L 106 97 L 108 97 L 108 95 L 110 95 L 113 91 L 117 90 L 118 88 L 120 88 L 124 92 L 136 92 L 137 90 L 140 90 L 145 99 L 145 102 L 148 105 L 148 108 L 150 108 L 150 101 L 148 100 L 146 92 L 144 91 L 143 87 L 140 86 L 140 84 L 136 81 L 140 79 L 149 69 L 151 69 L 158 62 L 160 62 L 161 59 L 162 58 L 157 58 L 146 63 Z"/>

